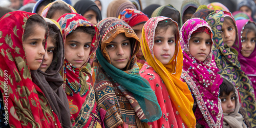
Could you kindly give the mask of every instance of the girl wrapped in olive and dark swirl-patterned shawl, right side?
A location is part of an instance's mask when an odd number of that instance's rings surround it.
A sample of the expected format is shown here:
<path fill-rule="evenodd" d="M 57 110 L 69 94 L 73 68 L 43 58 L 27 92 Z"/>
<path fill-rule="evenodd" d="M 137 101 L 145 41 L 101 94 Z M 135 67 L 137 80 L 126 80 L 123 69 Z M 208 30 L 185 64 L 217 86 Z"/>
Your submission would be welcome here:
<path fill-rule="evenodd" d="M 241 70 L 240 62 L 237 59 L 239 48 L 237 26 L 233 16 L 229 12 L 215 11 L 206 17 L 206 22 L 210 25 L 214 37 L 215 45 L 212 47 L 212 54 L 220 69 L 218 74 L 230 80 L 238 89 L 240 103 L 247 126 L 256 126 L 256 104 L 251 81 Z M 232 46 L 232 48 L 231 48 Z M 243 112 L 241 112 L 243 113 Z M 248 118 L 248 120 L 247 120 Z M 250 124 L 249 124 L 250 123 Z"/>

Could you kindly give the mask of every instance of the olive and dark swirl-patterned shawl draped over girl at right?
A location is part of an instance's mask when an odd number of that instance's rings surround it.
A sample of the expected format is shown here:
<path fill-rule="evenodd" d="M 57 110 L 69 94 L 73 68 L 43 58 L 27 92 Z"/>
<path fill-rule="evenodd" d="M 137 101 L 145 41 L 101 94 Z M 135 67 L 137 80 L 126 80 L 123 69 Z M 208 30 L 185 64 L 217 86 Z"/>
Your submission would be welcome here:
<path fill-rule="evenodd" d="M 230 13 L 225 12 L 225 15 Z M 238 52 L 233 49 L 234 47 L 239 48 L 238 39 L 234 42 L 233 48 L 223 43 L 220 31 L 224 22 L 224 12 L 212 12 L 206 17 L 207 23 L 210 25 L 214 37 L 212 38 L 215 42 L 212 47 L 212 54 L 215 56 L 215 62 L 217 67 L 220 69 L 218 72 L 223 77 L 232 81 L 233 85 L 239 88 L 239 95 L 241 99 L 242 108 L 246 111 L 248 123 L 251 126 L 256 126 L 256 104 L 253 88 L 251 87 L 251 81 L 241 70 L 240 62 L 236 54 Z M 237 27 L 236 27 L 237 29 Z M 237 35 L 238 37 L 238 35 Z"/>

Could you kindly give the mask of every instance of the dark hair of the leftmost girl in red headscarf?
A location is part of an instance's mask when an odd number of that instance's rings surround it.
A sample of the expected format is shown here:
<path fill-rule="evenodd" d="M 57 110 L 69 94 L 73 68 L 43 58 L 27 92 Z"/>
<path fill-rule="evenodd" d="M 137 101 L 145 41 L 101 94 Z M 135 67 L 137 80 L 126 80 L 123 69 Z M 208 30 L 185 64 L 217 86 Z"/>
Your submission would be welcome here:
<path fill-rule="evenodd" d="M 48 28 L 47 28 L 45 19 L 38 14 L 31 15 L 25 24 L 26 25 L 25 25 L 22 41 L 26 40 L 32 34 L 36 26 L 41 26 L 42 28 L 45 28 L 46 35 L 48 33 Z"/>

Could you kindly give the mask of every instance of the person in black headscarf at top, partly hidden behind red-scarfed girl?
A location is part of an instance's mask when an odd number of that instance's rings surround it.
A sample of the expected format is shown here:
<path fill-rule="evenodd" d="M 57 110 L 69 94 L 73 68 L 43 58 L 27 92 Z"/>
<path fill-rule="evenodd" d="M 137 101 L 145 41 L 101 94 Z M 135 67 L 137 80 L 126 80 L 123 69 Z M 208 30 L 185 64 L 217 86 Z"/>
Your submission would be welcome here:
<path fill-rule="evenodd" d="M 78 14 L 81 14 L 94 25 L 102 19 L 98 6 L 91 0 L 80 0 L 74 5 L 74 8 Z"/>

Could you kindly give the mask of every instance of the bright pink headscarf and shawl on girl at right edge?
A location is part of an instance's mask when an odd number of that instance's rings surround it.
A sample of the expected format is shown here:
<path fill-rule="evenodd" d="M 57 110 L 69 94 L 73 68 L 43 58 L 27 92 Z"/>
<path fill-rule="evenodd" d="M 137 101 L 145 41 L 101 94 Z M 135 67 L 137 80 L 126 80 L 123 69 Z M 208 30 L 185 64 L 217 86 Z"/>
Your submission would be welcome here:
<path fill-rule="evenodd" d="M 251 22 L 249 19 L 237 20 L 236 23 L 238 26 L 239 40 L 241 40 L 245 25 L 247 25 L 248 23 L 255 24 L 254 22 Z M 254 65 L 254 63 L 256 63 L 256 59 L 255 59 L 256 58 L 256 49 L 253 50 L 253 52 L 251 53 L 251 55 L 249 57 L 244 57 L 241 53 L 242 42 L 239 41 L 239 48 L 236 48 L 236 50 L 239 52 L 238 60 L 240 61 L 241 69 L 245 72 L 245 74 L 251 80 L 252 87 L 254 89 L 254 94 L 256 95 L 256 91 L 255 91 L 256 90 L 256 65 Z"/>

